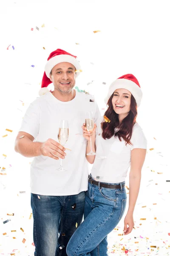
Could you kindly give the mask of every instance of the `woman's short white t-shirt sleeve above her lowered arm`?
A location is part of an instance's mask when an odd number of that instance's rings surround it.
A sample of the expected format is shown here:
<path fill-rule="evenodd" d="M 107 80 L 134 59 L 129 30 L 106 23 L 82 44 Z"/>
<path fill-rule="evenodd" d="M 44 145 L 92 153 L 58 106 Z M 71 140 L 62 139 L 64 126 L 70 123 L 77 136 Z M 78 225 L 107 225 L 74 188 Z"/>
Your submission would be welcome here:
<path fill-rule="evenodd" d="M 130 150 L 133 150 L 133 148 L 147 149 L 147 139 L 144 136 L 144 132 L 142 131 L 142 128 L 140 126 L 133 128 L 133 134 L 130 142 L 133 144 L 130 145 Z"/>

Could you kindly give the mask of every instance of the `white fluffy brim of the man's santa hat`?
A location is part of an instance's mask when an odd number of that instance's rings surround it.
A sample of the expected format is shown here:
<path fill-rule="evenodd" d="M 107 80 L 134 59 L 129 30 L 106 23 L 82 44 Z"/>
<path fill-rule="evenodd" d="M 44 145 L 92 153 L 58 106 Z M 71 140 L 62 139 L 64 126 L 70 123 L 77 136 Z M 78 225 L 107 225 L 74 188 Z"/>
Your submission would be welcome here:
<path fill-rule="evenodd" d="M 79 61 L 76 58 L 74 58 L 73 56 L 67 55 L 67 54 L 56 55 L 56 56 L 52 57 L 51 59 L 49 59 L 49 61 L 45 64 L 45 74 L 48 78 L 50 78 L 50 72 L 51 72 L 52 68 L 61 62 L 69 62 L 76 68 L 76 70 L 81 69 Z M 77 73 L 77 76 L 78 75 L 79 75 L 79 73 Z"/>

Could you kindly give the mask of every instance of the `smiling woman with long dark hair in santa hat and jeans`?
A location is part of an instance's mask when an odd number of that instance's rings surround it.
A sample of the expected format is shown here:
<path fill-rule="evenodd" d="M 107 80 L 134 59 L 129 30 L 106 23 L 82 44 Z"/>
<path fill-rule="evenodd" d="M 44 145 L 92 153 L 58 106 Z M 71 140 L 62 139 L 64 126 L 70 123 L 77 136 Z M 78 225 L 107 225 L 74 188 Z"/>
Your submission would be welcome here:
<path fill-rule="evenodd" d="M 147 148 L 143 131 L 136 123 L 141 99 L 139 82 L 132 74 L 116 79 L 109 87 L 105 99 L 108 109 L 101 123 L 101 132 L 99 130 L 95 134 L 95 126 L 92 134 L 96 156 L 86 156 L 94 166 L 85 196 L 84 221 L 68 243 L 68 256 L 108 255 L 107 235 L 125 212 L 125 178 L 129 166 L 129 207 L 124 221 L 124 235 L 133 229 L 133 211 Z M 90 134 L 85 124 L 82 128 L 83 136 L 88 140 L 86 151 L 89 152 Z"/>

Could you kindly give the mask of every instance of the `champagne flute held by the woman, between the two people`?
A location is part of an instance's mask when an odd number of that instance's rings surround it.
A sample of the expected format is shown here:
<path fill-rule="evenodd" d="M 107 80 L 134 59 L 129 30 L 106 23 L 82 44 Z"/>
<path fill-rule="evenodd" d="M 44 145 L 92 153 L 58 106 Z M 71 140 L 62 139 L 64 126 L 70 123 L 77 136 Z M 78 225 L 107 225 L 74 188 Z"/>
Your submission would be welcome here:
<path fill-rule="evenodd" d="M 94 129 L 94 115 L 92 111 L 88 111 L 85 113 L 85 125 L 87 130 L 90 131 L 92 135 L 92 131 Z M 92 150 L 91 136 L 90 136 L 90 147 L 91 147 L 91 151 L 87 153 L 87 155 L 94 156 L 96 153 Z"/>

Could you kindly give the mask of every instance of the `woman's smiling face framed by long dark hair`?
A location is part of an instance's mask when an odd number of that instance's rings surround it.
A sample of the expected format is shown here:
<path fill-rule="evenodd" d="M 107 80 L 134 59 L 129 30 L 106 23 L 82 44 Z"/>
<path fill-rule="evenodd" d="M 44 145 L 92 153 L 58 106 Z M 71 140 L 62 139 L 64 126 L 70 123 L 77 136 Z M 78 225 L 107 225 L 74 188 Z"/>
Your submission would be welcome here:
<path fill-rule="evenodd" d="M 121 117 L 125 118 L 130 111 L 131 93 L 126 89 L 116 89 L 113 93 L 113 110 Z"/>

